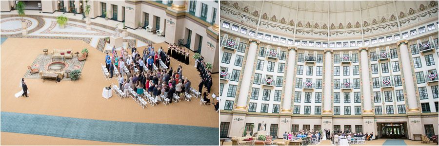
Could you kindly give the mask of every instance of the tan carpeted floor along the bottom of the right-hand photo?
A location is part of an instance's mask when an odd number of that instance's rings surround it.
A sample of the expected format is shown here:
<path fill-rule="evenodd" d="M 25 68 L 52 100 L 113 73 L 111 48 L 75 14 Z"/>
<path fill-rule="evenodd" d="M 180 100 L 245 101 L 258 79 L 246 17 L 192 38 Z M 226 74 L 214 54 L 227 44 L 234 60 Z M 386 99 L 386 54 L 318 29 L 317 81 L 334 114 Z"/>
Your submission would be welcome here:
<path fill-rule="evenodd" d="M 366 144 L 363 145 L 352 145 L 352 146 L 382 146 L 382 144 L 384 144 L 384 142 L 387 139 L 378 139 L 378 140 L 374 140 L 374 141 L 366 141 Z M 401 139 L 402 140 L 402 139 Z M 273 141 L 273 143 L 277 143 L 277 142 L 282 142 L 283 139 L 275 139 Z M 407 146 L 437 146 L 436 143 L 431 143 L 431 144 L 422 144 L 421 141 L 411 141 L 411 140 L 404 140 L 405 144 L 407 144 Z M 319 146 L 332 146 L 331 145 L 331 141 L 329 140 L 325 140 L 325 141 L 321 141 L 319 144 Z M 230 141 L 230 139 L 228 139 L 226 142 L 224 142 L 223 146 L 232 146 L 232 142 Z"/>

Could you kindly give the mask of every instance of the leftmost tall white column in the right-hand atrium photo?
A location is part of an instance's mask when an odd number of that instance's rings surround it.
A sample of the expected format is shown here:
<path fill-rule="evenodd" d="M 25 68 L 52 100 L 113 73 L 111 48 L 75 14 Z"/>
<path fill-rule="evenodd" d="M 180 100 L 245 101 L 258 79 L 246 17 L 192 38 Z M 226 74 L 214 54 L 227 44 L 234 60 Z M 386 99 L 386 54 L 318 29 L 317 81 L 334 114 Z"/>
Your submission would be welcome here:
<path fill-rule="evenodd" d="M 246 106 L 247 106 L 248 91 L 250 85 L 253 84 L 252 76 L 255 67 L 254 64 L 257 55 L 256 50 L 258 50 L 258 43 L 259 43 L 258 39 L 250 38 L 250 45 L 248 47 L 247 59 L 245 60 L 246 63 L 243 71 L 244 73 L 241 79 L 241 87 L 239 88 L 238 103 L 236 105 L 235 110 L 247 110 Z"/>

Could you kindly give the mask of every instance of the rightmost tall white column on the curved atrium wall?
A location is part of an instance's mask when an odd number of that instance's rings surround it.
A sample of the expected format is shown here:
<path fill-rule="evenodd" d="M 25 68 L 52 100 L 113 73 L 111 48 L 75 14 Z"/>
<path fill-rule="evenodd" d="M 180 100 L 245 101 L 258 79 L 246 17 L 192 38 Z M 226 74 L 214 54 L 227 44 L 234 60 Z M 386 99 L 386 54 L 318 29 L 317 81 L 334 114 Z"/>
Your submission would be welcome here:
<path fill-rule="evenodd" d="M 400 57 L 402 63 L 402 73 L 404 73 L 404 83 L 407 92 L 409 111 L 419 112 L 418 101 L 416 99 L 416 92 L 415 92 L 415 83 L 413 82 L 412 66 L 410 65 L 410 60 L 412 58 L 410 58 L 409 56 L 407 40 L 404 39 L 398 41 L 397 45 L 399 46 L 399 51 L 401 53 Z"/>

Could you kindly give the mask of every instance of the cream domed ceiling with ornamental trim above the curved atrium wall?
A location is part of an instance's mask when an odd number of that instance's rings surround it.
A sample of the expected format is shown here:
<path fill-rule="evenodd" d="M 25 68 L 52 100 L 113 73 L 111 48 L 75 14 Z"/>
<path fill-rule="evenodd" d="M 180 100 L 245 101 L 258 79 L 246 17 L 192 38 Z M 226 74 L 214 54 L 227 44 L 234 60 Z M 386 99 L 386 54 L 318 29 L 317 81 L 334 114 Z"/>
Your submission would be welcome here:
<path fill-rule="evenodd" d="M 396 22 L 397 17 L 405 18 L 431 8 L 437 9 L 435 0 L 400 1 L 221 1 L 239 13 L 271 21 L 278 24 L 320 30 L 346 30 L 377 26 Z M 396 8 L 396 9 L 395 9 Z"/>

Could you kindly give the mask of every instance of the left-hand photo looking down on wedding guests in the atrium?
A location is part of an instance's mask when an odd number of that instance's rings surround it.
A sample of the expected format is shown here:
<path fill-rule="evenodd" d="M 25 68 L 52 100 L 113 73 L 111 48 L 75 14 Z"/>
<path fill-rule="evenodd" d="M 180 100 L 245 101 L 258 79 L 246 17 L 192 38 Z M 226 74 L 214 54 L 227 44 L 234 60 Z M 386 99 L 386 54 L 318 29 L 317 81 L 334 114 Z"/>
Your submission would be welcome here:
<path fill-rule="evenodd" d="M 1 0 L 1 145 L 218 145 L 219 17 L 218 0 Z"/>

